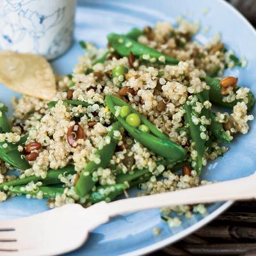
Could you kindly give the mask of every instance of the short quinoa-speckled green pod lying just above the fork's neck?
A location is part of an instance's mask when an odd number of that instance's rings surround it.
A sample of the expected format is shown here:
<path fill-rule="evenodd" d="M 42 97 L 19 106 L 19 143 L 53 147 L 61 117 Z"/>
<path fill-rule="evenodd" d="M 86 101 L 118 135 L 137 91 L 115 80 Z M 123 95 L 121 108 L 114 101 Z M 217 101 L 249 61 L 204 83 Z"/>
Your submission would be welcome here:
<path fill-rule="evenodd" d="M 127 186 L 125 184 L 115 184 L 108 186 L 100 186 L 96 191 L 93 191 L 88 199 L 88 202 L 96 204 L 100 201 L 111 202 L 116 196 L 121 195 Z"/>

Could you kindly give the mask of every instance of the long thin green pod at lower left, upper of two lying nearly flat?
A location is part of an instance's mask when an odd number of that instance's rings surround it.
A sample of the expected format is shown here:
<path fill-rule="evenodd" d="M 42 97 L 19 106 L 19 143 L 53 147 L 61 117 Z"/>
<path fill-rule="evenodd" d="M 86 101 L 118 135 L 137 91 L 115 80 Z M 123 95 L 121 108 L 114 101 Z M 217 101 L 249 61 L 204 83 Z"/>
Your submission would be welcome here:
<path fill-rule="evenodd" d="M 57 184 L 57 183 L 60 183 L 60 179 L 59 179 L 60 174 L 68 175 L 68 174 L 74 174 L 74 173 L 76 173 L 76 171 L 74 170 L 74 166 L 70 164 L 63 168 L 60 168 L 59 170 L 49 170 L 45 179 L 42 179 L 42 177 L 29 176 L 22 179 L 16 179 L 16 180 L 5 182 L 3 184 L 0 184 L 0 190 L 3 190 L 4 188 L 8 189 L 10 186 L 25 185 L 31 181 L 34 181 L 34 182 L 42 181 L 44 185 Z"/>

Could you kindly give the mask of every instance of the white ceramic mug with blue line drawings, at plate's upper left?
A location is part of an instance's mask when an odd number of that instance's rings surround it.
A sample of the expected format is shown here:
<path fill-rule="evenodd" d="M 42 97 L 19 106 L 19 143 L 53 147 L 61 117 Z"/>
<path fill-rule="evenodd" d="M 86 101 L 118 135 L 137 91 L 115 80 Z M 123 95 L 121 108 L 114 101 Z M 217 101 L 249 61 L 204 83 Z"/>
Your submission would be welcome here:
<path fill-rule="evenodd" d="M 0 47 L 48 60 L 72 44 L 76 0 L 1 0 Z"/>

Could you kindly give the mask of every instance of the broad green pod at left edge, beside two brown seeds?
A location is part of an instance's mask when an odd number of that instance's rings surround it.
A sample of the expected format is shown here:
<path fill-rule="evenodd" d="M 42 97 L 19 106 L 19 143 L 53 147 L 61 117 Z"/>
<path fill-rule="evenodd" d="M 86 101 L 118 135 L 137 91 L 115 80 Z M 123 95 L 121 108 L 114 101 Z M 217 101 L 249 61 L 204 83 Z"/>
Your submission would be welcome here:
<path fill-rule="evenodd" d="M 0 143 L 0 158 L 11 166 L 19 169 L 28 169 L 29 163 L 21 156 L 18 151 L 17 144 L 1 142 Z"/>

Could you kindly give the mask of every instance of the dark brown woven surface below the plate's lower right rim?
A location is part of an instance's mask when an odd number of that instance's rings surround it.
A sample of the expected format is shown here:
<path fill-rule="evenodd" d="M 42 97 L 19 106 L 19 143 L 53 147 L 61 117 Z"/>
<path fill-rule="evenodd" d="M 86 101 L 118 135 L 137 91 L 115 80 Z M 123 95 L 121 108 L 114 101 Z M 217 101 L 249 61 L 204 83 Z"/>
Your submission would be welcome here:
<path fill-rule="evenodd" d="M 191 236 L 150 254 L 150 256 L 157 255 L 255 256 L 256 201 L 236 202 L 230 209 Z"/>

